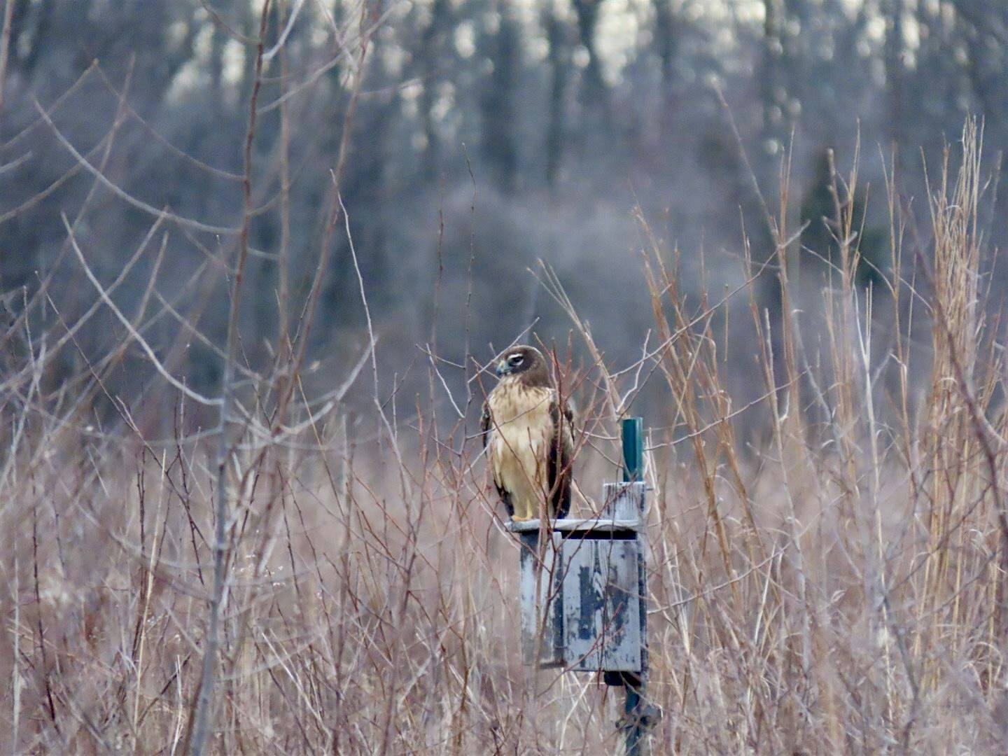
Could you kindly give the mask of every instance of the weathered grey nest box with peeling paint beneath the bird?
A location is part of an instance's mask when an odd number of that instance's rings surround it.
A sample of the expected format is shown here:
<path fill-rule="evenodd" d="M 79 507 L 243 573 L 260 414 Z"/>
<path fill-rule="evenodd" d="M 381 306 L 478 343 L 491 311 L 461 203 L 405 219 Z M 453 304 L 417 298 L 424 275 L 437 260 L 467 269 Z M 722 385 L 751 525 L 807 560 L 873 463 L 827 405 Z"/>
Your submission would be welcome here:
<path fill-rule="evenodd" d="M 646 664 L 645 485 L 608 484 L 602 514 L 512 523 L 521 537 L 525 663 L 640 672 Z M 540 541 L 544 538 L 544 541 Z"/>

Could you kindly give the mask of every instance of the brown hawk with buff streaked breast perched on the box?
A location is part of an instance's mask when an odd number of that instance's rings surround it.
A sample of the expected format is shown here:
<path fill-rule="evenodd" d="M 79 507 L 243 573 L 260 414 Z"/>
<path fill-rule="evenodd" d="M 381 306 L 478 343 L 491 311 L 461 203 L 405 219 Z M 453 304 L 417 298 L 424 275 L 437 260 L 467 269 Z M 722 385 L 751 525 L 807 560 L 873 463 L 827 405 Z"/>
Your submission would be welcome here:
<path fill-rule="evenodd" d="M 513 347 L 497 362 L 500 379 L 483 404 L 483 446 L 507 513 L 515 522 L 571 509 L 574 415 L 549 378 L 542 353 Z"/>

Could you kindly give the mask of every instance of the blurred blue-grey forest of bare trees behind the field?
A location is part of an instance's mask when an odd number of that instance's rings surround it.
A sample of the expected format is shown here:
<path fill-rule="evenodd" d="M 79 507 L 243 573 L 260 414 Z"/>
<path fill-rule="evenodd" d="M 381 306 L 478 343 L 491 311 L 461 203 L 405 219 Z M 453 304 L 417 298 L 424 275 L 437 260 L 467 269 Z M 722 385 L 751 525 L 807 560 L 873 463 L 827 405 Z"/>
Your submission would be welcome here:
<path fill-rule="evenodd" d="M 73 319 L 90 302 L 78 299 L 88 290 L 76 285 L 79 267 L 56 265 L 66 247 L 59 214 L 73 219 L 94 195 L 77 234 L 107 281 L 148 234 L 151 213 L 168 209 L 204 225 L 167 224 L 159 289 L 179 311 L 199 308 L 201 329 L 218 341 L 225 300 L 208 298 L 192 277 L 241 226 L 256 52 L 248 40 L 261 3 L 15 0 L 7 9 L 0 287 L 19 299 L 21 286 L 30 291 L 38 271 L 55 267 L 52 286 L 66 291 L 57 299 Z M 253 363 L 268 361 L 262 343 L 276 331 L 281 244 L 292 301 L 310 285 L 345 123 L 341 194 L 390 381 L 432 336 L 457 363 L 467 348 L 489 359 L 490 343 L 535 318 L 544 319 L 537 333 L 562 342 L 566 326 L 527 272 L 539 258 L 585 308 L 607 354 L 633 358 L 638 340 L 626 335 L 643 334 L 650 317 L 631 294 L 643 280 L 633 208 L 666 250 L 681 250 L 686 293 L 704 275 L 718 289 L 743 276 L 744 237 L 755 261 L 772 253 L 754 178 L 776 215 L 785 157 L 789 226 L 806 223 L 798 244 L 829 258 L 828 150 L 846 173 L 859 135 L 864 283 L 871 265 L 888 265 L 883 172 L 893 155 L 901 201 L 916 198 L 923 211 L 922 158 L 936 164 L 966 115 L 985 119 L 992 166 L 1008 138 L 1008 11 L 997 0 L 384 2 L 366 10 L 364 81 L 348 120 L 355 58 L 346 45 L 361 12 L 284 0 L 267 19 L 272 54 L 252 144 L 254 293 L 242 313 Z M 71 145 L 144 205 L 93 190 Z M 1008 216 L 993 175 L 985 220 L 996 246 Z M 324 372 L 336 369 L 335 354 L 360 347 L 365 320 L 346 235 L 329 243 L 312 331 Z M 820 288 L 814 255 L 797 256 L 803 282 Z M 118 288 L 127 310 L 151 265 L 141 259 Z M 772 272 L 760 296 L 774 310 Z M 117 338 L 99 325 L 112 326 L 110 318 L 101 312 L 82 331 L 86 353 Z M 69 350 L 64 359 L 77 358 Z M 221 378 L 220 361 L 200 343 L 174 369 L 194 386 Z"/>

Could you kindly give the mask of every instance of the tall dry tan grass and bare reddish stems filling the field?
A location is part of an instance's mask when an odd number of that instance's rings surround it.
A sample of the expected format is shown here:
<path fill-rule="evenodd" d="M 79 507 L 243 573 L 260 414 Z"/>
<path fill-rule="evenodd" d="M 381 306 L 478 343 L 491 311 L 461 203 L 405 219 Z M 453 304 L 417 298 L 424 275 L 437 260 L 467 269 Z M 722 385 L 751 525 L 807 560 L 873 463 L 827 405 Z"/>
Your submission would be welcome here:
<path fill-rule="evenodd" d="M 579 340 L 557 364 L 583 407 L 585 495 L 615 477 L 614 428 L 640 388 L 661 397 L 647 418 L 655 752 L 991 752 L 1008 737 L 1005 365 L 987 323 L 972 124 L 952 162 L 931 192 L 929 238 L 904 239 L 906 208 L 888 187 L 884 290 L 855 283 L 857 176 L 837 177 L 840 257 L 803 314 L 786 180 L 773 264 L 747 263 L 747 284 L 724 298 L 687 304 L 641 218 L 656 340 L 620 370 L 542 272 Z M 245 196 L 247 230 L 248 182 Z M 329 233 L 341 207 L 335 188 Z M 161 214 L 154 230 L 176 220 Z M 241 270 L 245 235 L 238 252 Z M 754 287 L 774 272 L 776 320 Z M 51 352 L 76 346 L 73 325 L 44 287 L 4 337 L 6 750 L 199 751 L 201 716 L 222 753 L 620 747 L 616 692 L 519 662 L 517 545 L 474 434 L 489 388 L 475 361 L 429 355 L 423 400 L 379 397 L 374 375 L 373 404 L 351 413 L 347 387 L 377 369 L 370 351 L 309 401 L 306 333 L 288 342 L 284 323 L 258 374 L 229 329 L 224 400 L 170 383 L 158 363 L 138 405 L 105 378 L 127 355 L 161 359 L 144 341 L 147 302 L 119 313 L 124 340 L 105 357 L 80 353 L 73 379 L 57 380 Z M 750 336 L 730 339 L 729 317 Z M 761 387 L 746 405 L 725 376 L 740 352 Z M 150 437 L 141 410 L 172 417 L 170 437 Z M 217 411 L 216 429 L 201 429 Z M 745 442 L 743 420 L 757 428 Z"/>

